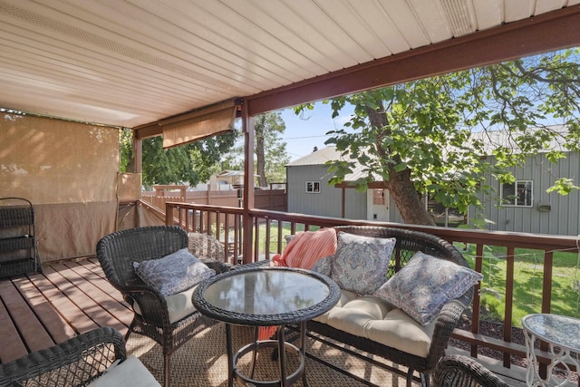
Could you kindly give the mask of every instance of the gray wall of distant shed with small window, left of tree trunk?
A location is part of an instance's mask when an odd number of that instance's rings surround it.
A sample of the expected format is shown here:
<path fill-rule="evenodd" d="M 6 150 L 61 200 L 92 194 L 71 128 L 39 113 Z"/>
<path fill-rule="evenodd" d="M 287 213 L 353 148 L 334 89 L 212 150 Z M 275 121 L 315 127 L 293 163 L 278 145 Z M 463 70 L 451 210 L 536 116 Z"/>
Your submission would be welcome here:
<path fill-rule="evenodd" d="M 321 217 L 341 218 L 342 189 L 328 185 L 331 176 L 322 165 L 286 167 L 288 212 Z M 320 181 L 320 193 L 306 193 L 306 181 Z M 344 216 L 349 219 L 366 218 L 366 193 L 345 189 Z"/>

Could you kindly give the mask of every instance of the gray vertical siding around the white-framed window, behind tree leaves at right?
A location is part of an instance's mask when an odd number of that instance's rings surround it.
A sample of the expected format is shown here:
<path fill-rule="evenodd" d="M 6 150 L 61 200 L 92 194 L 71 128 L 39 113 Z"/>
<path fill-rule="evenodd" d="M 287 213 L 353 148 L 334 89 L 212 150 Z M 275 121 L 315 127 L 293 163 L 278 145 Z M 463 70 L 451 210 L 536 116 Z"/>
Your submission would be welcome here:
<path fill-rule="evenodd" d="M 490 158 L 493 162 L 493 158 Z M 484 197 L 479 199 L 483 202 L 485 218 L 494 223 L 488 224 L 489 230 L 516 231 L 536 234 L 576 236 L 580 233 L 580 192 L 573 191 L 569 195 L 562 196 L 556 192 L 547 193 L 556 179 L 575 179 L 575 184 L 580 181 L 580 154 L 568 153 L 566 159 L 553 164 L 546 160 L 544 155 L 536 155 L 529 158 L 524 167 L 513 169 L 514 176 L 518 180 L 533 181 L 533 207 L 503 207 L 498 208 L 498 199 Z M 499 181 L 489 174 L 486 176 L 488 183 L 497 189 L 499 195 Z M 549 203 L 551 210 L 543 212 L 538 210 L 539 203 Z M 470 208 L 469 218 L 476 212 Z"/>

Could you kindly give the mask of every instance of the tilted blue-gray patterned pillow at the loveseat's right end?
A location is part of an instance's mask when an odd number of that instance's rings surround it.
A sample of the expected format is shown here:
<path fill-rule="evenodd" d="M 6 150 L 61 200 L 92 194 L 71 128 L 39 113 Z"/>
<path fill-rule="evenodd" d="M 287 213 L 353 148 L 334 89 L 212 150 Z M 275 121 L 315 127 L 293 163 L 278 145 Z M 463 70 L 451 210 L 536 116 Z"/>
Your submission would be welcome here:
<path fill-rule="evenodd" d="M 483 276 L 468 267 L 418 251 L 374 295 L 402 309 L 418 323 L 427 325 L 443 305 L 463 295 L 481 278 Z"/>

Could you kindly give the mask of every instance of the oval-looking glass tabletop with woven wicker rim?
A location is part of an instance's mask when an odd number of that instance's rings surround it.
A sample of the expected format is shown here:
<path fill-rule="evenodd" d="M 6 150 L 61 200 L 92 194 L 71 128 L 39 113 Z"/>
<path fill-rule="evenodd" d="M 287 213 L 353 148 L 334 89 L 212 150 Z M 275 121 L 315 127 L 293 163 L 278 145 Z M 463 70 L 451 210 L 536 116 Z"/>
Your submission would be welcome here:
<path fill-rule="evenodd" d="M 230 324 L 272 326 L 310 320 L 330 310 L 340 289 L 326 276 L 289 267 L 239 268 L 204 281 L 199 312 Z"/>

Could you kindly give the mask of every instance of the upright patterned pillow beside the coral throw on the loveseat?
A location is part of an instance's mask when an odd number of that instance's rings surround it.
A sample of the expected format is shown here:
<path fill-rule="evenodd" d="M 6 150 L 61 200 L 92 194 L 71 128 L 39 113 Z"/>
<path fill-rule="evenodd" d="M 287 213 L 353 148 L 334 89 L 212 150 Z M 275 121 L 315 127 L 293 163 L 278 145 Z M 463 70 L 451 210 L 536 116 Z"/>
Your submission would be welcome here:
<path fill-rule="evenodd" d="M 387 280 L 395 238 L 338 233 L 331 278 L 341 289 L 372 295 Z"/>

